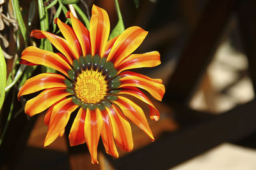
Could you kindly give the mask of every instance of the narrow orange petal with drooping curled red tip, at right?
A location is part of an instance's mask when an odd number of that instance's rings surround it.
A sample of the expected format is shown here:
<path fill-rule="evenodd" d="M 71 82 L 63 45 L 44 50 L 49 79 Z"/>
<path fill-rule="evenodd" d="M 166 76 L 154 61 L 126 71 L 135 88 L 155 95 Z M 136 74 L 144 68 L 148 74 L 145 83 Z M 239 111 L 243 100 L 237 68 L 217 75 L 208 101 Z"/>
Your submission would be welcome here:
<path fill-rule="evenodd" d="M 134 97 L 140 99 L 141 101 L 147 103 L 149 106 L 150 118 L 152 120 L 156 120 L 156 121 L 159 120 L 159 117 L 160 117 L 159 111 L 156 109 L 154 104 L 151 103 L 151 101 L 148 99 L 148 97 L 145 96 L 145 94 L 143 92 L 141 92 L 141 90 L 137 89 L 136 87 L 125 87 L 125 89 L 121 90 L 118 94 L 128 94 L 128 95 L 134 96 Z"/>

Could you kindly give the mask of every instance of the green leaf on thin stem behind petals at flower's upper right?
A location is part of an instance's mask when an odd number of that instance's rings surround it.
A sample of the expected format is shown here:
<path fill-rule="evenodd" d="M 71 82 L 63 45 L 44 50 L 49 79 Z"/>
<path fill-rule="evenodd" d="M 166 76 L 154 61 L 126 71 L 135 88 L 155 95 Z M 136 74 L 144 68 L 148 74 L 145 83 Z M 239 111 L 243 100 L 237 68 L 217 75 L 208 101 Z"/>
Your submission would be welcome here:
<path fill-rule="evenodd" d="M 115 4 L 116 4 L 117 15 L 118 15 L 118 22 L 115 28 L 113 29 L 113 31 L 111 32 L 111 34 L 109 35 L 109 39 L 115 38 L 116 36 L 119 36 L 122 32 L 124 32 L 124 22 L 123 22 L 120 8 L 119 8 L 118 0 L 115 0 Z"/>

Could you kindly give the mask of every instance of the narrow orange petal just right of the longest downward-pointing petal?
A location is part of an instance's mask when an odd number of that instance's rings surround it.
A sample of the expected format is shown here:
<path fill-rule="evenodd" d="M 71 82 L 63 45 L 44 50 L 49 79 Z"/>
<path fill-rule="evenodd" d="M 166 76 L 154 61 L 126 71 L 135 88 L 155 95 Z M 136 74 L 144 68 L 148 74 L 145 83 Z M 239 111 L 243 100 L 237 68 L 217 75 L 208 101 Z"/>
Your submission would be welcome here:
<path fill-rule="evenodd" d="M 103 120 L 101 138 L 105 146 L 106 153 L 118 158 L 118 152 L 116 150 L 116 145 L 113 139 L 113 128 L 111 125 L 109 113 L 107 110 L 102 110 L 101 114 Z"/>

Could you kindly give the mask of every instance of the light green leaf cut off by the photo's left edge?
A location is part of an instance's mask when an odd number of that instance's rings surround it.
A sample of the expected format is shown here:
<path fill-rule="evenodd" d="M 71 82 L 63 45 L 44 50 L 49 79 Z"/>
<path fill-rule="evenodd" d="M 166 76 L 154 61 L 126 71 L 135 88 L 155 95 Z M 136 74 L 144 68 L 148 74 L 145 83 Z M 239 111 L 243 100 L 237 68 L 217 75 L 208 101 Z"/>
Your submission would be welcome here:
<path fill-rule="evenodd" d="M 6 86 L 6 62 L 0 46 L 0 110 L 4 103 L 5 86 Z"/>

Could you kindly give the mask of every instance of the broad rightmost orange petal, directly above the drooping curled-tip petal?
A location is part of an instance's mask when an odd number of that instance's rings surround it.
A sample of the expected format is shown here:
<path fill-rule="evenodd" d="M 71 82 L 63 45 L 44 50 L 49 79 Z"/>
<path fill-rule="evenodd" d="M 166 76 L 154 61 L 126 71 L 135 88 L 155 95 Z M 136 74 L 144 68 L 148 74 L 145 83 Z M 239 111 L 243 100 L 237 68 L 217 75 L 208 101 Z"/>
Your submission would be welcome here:
<path fill-rule="evenodd" d="M 120 75 L 122 76 L 122 78 L 120 78 L 120 87 L 139 87 L 141 89 L 147 90 L 155 99 L 159 101 L 163 99 L 165 88 L 163 84 L 156 82 L 159 80 L 153 80 L 145 75 L 128 71 L 125 71 Z"/>

